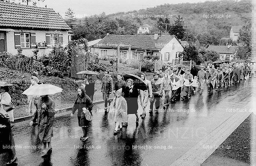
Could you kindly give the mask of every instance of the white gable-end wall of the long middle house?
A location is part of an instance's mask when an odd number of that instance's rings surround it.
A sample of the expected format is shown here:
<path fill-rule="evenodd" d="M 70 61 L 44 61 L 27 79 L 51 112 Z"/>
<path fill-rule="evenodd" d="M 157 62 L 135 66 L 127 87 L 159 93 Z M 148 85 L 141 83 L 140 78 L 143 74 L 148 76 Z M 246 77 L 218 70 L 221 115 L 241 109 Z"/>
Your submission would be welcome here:
<path fill-rule="evenodd" d="M 178 54 L 183 50 L 184 48 L 182 47 L 180 42 L 176 38 L 173 38 L 161 49 L 160 53 L 162 54 L 162 58 L 160 57 L 160 60 L 162 59 L 165 62 L 172 62 L 173 59 L 176 58 L 176 53 Z M 169 59 L 168 59 L 168 54 L 169 54 Z"/>

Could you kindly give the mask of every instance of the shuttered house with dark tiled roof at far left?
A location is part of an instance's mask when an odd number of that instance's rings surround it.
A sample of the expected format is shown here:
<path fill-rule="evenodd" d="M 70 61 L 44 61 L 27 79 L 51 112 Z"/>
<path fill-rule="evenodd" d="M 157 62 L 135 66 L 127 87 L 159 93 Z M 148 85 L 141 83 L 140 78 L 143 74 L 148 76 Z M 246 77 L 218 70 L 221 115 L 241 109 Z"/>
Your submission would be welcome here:
<path fill-rule="evenodd" d="M 52 8 L 0 2 L 0 52 L 38 56 L 48 54 L 54 45 L 53 33 L 59 33 L 61 45 L 68 44 L 69 26 Z"/>

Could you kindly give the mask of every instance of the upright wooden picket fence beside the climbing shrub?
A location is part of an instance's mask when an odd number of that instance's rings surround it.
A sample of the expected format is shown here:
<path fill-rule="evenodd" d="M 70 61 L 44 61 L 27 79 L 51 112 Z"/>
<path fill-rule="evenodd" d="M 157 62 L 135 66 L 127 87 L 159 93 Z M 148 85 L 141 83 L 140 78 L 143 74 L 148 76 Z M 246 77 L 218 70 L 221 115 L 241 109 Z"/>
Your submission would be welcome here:
<path fill-rule="evenodd" d="M 83 75 L 78 75 L 76 73 L 86 70 L 86 56 L 86 52 L 83 49 L 77 50 L 71 66 L 71 78 L 83 79 Z"/>

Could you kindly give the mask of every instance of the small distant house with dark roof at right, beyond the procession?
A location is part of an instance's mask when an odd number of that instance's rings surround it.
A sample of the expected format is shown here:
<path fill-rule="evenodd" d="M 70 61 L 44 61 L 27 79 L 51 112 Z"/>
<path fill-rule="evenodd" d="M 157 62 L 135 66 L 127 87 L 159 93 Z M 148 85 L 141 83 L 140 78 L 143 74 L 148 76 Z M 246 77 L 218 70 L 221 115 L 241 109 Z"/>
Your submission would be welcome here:
<path fill-rule="evenodd" d="M 209 45 L 207 50 L 215 51 L 219 53 L 219 59 L 220 60 L 232 60 L 237 53 L 238 46 L 214 46 Z"/>

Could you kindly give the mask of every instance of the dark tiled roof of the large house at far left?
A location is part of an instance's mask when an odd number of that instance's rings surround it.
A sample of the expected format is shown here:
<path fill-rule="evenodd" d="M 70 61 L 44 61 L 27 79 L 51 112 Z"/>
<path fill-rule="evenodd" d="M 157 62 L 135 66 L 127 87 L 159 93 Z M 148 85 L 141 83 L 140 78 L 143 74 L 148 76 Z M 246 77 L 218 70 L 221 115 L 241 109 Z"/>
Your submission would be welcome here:
<path fill-rule="evenodd" d="M 70 29 L 51 8 L 0 2 L 0 26 L 35 29 Z"/>

